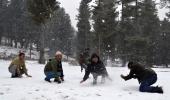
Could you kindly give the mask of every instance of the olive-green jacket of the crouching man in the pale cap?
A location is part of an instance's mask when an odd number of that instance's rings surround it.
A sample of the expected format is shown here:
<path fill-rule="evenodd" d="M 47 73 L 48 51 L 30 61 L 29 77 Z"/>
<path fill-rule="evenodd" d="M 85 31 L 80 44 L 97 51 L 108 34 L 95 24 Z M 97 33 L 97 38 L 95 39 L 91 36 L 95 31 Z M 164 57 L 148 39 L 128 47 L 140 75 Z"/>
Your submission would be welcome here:
<path fill-rule="evenodd" d="M 54 73 L 57 73 L 58 72 L 58 63 L 56 61 L 56 59 L 51 59 L 46 65 L 45 65 L 45 68 L 44 68 L 44 72 L 54 72 Z"/>

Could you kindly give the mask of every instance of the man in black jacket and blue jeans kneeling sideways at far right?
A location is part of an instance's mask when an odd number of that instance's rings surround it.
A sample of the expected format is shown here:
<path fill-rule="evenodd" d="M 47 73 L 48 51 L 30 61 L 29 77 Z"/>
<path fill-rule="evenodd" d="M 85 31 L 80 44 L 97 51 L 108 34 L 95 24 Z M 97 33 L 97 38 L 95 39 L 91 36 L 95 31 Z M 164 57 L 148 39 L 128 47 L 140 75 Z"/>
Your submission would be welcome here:
<path fill-rule="evenodd" d="M 125 81 L 137 78 L 140 83 L 139 90 L 141 92 L 163 93 L 162 87 L 151 86 L 157 81 L 157 74 L 154 70 L 151 68 L 145 68 L 144 66 L 134 62 L 129 62 L 128 68 L 130 69 L 129 75 L 121 75 L 121 78 Z"/>

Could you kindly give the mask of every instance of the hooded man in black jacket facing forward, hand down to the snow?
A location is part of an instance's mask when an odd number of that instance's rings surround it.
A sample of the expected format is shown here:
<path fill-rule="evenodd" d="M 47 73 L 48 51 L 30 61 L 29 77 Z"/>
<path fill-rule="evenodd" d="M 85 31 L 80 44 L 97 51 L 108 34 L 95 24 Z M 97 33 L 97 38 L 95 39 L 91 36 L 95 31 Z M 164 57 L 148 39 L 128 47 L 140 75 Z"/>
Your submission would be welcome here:
<path fill-rule="evenodd" d="M 80 83 L 85 82 L 88 78 L 90 73 L 93 75 L 93 84 L 97 84 L 98 76 L 102 76 L 102 83 L 105 82 L 105 78 L 108 77 L 107 70 L 100 60 L 97 54 L 92 54 L 90 59 L 90 64 L 88 64 L 87 70 L 85 72 L 84 78 Z"/>

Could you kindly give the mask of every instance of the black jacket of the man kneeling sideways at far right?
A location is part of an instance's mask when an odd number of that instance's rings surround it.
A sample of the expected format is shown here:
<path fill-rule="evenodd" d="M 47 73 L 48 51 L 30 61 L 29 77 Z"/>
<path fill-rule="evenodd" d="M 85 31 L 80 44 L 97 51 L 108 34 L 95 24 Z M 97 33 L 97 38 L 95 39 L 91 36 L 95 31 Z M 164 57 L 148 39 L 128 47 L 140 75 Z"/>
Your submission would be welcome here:
<path fill-rule="evenodd" d="M 152 70 L 151 68 L 145 68 L 140 64 L 134 63 L 130 68 L 129 75 L 125 76 L 124 79 L 129 80 L 131 78 L 137 78 L 139 83 L 141 83 L 152 75 L 157 75 L 154 70 Z"/>

